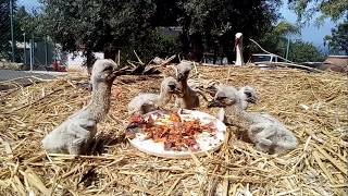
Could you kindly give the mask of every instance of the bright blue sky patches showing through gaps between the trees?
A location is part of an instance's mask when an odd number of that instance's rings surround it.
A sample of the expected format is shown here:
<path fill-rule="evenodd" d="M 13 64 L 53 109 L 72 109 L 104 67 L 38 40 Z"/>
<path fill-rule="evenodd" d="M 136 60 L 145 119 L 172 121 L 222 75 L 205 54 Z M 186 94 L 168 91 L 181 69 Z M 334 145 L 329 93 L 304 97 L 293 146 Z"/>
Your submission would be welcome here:
<path fill-rule="evenodd" d="M 281 8 L 281 13 L 285 21 L 296 23 L 296 14 L 290 11 L 287 7 L 287 0 L 283 0 L 284 3 Z M 38 3 L 38 0 L 17 0 L 18 5 L 24 5 L 28 11 L 38 8 L 40 4 Z M 324 47 L 323 38 L 325 35 L 331 35 L 331 29 L 336 26 L 334 22 L 331 20 L 325 20 L 324 24 L 320 27 L 314 25 L 314 22 L 311 22 L 312 24 L 309 26 L 306 26 L 302 28 L 301 35 L 291 37 L 294 39 L 302 39 L 304 41 L 310 41 L 314 44 L 318 48 L 320 48 L 323 51 L 326 51 L 327 48 Z"/>

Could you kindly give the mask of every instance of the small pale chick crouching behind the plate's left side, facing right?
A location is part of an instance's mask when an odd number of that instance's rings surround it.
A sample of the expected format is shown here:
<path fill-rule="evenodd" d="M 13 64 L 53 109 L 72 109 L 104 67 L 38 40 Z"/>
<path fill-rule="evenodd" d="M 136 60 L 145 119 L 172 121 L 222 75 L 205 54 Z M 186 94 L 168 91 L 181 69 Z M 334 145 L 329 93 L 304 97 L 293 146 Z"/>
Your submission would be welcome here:
<path fill-rule="evenodd" d="M 139 94 L 133 98 L 128 106 L 128 114 L 145 114 L 166 105 L 173 95 L 179 96 L 182 90 L 174 77 L 165 77 L 161 83 L 161 91 L 158 94 Z"/>

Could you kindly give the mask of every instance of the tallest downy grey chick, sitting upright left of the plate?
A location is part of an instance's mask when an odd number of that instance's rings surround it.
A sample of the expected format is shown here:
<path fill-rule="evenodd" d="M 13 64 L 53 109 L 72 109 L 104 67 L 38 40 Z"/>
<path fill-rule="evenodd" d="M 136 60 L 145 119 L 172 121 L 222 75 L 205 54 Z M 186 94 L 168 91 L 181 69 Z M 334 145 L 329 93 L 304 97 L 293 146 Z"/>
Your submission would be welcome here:
<path fill-rule="evenodd" d="M 69 117 L 42 139 L 51 154 L 85 154 L 100 122 L 110 109 L 111 86 L 116 77 L 117 64 L 112 60 L 97 60 L 92 68 L 90 102 Z"/>

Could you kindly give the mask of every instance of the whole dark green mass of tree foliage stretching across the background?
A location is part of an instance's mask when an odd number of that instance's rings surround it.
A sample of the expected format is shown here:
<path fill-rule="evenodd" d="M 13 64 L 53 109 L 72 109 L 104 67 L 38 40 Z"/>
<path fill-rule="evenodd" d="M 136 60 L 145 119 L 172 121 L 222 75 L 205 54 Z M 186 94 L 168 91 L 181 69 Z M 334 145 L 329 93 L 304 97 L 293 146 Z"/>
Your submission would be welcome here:
<path fill-rule="evenodd" d="M 65 51 L 104 51 L 114 57 L 119 49 L 141 58 L 170 56 L 179 50 L 200 60 L 203 51 L 234 59 L 234 36 L 245 37 L 245 54 L 253 48 L 247 38 L 262 42 L 283 54 L 284 36 L 298 33 L 288 23 L 278 23 L 281 0 L 40 0 L 40 15 L 18 9 L 20 27 L 37 37 L 49 35 Z M 179 40 L 161 34 L 157 27 L 181 25 Z M 87 56 L 89 57 L 89 56 Z M 87 58 L 88 61 L 88 58 Z"/>

